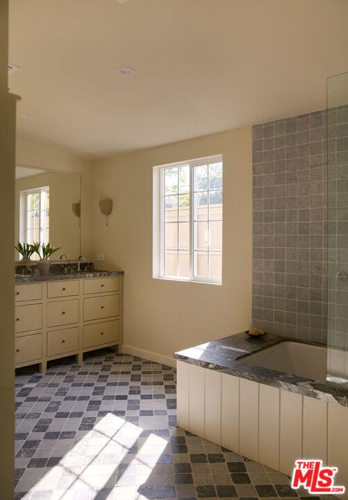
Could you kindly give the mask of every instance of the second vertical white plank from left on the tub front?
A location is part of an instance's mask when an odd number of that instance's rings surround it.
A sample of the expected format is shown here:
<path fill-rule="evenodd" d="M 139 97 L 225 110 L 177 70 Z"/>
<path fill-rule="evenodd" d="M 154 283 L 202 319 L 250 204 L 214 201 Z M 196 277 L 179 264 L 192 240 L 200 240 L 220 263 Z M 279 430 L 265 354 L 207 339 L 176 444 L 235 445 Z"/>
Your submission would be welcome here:
<path fill-rule="evenodd" d="M 189 430 L 204 437 L 204 372 L 201 367 L 190 365 Z"/>

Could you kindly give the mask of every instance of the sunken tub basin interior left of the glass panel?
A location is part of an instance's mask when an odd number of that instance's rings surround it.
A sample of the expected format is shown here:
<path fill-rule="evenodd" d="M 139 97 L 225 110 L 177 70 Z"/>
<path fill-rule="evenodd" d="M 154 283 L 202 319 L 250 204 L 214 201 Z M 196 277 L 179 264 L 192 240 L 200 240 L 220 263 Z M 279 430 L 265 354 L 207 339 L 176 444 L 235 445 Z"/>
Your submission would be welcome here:
<path fill-rule="evenodd" d="M 238 358 L 240 363 L 274 369 L 315 381 L 326 381 L 326 349 L 285 340 L 253 354 Z"/>

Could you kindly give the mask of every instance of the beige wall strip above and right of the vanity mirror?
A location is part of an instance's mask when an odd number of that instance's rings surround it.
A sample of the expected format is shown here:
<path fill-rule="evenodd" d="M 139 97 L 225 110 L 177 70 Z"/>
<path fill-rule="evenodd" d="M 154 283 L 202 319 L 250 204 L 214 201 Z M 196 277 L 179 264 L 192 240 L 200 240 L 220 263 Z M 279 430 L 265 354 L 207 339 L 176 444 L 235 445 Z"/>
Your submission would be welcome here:
<path fill-rule="evenodd" d="M 17 140 L 16 163 L 24 167 L 81 174 L 81 252 L 88 260 L 92 260 L 92 203 L 90 198 L 92 167 L 90 162 L 67 151 L 53 149 L 35 142 Z M 77 258 L 77 255 L 71 256 L 69 253 L 67 253 L 68 258 Z"/>

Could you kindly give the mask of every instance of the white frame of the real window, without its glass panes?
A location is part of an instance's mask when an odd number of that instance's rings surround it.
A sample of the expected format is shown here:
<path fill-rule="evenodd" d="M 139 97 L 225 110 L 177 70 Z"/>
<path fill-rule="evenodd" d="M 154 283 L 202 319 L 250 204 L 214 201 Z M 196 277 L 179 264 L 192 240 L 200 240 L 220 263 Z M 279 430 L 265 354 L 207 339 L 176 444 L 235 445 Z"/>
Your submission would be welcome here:
<path fill-rule="evenodd" d="M 224 167 L 222 154 L 215 156 L 206 156 L 204 158 L 195 158 L 194 160 L 186 160 L 176 163 L 167 163 L 154 167 L 154 184 L 153 184 L 153 278 L 163 279 L 168 281 L 186 281 L 195 283 L 210 283 L 214 285 L 222 285 L 221 278 L 211 276 L 194 276 L 194 167 L 208 165 L 212 163 L 222 163 L 222 177 L 224 178 Z M 165 184 L 164 170 L 171 167 L 181 167 L 181 165 L 190 166 L 190 277 L 181 276 L 165 276 Z M 208 186 L 208 193 L 210 192 Z M 222 181 L 222 206 L 224 206 L 224 182 Z M 209 219 L 208 219 L 209 220 Z M 223 254 L 223 250 L 222 250 Z M 208 250 L 208 259 L 210 250 Z M 209 269 L 209 266 L 208 266 Z"/>

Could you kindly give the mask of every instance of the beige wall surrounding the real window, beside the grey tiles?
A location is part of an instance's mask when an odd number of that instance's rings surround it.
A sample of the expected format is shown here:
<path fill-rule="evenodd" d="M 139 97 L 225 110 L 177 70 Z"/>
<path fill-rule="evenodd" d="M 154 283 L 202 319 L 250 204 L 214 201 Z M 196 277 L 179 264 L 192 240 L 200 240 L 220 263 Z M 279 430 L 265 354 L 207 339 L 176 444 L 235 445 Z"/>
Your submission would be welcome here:
<path fill-rule="evenodd" d="M 153 167 L 218 153 L 224 160 L 222 285 L 153 279 Z M 125 350 L 169 363 L 174 351 L 249 328 L 251 127 L 97 161 L 93 183 L 94 260 L 103 253 L 103 268 L 126 273 Z M 114 201 L 108 226 L 97 206 L 106 197 Z"/>

